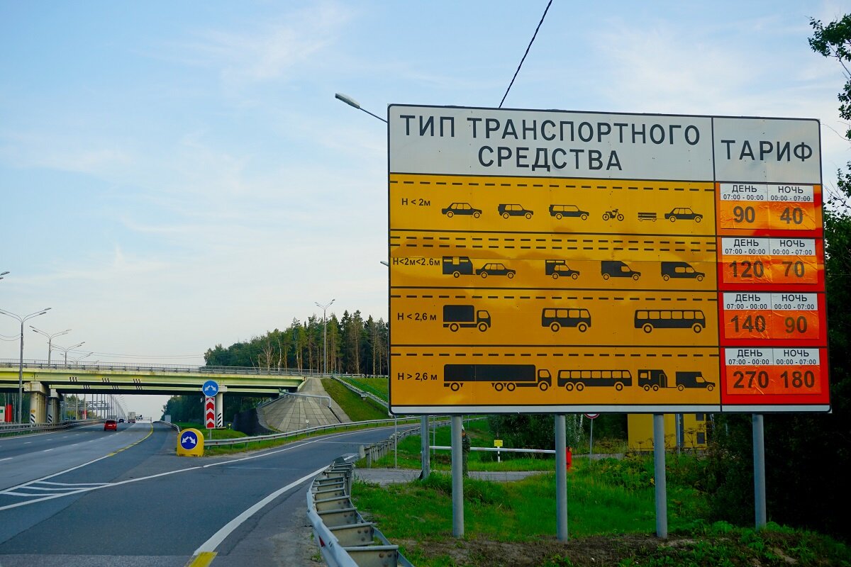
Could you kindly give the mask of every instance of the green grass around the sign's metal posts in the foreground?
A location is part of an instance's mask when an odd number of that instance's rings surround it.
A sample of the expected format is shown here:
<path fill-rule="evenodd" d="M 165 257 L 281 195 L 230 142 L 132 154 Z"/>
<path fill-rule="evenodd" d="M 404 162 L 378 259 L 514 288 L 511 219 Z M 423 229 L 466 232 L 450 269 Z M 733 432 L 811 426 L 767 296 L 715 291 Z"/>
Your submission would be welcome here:
<path fill-rule="evenodd" d="M 385 488 L 357 482 L 352 496 L 418 567 L 514 564 L 516 559 L 500 556 L 506 548 L 494 541 L 511 543 L 524 559 L 540 554 L 536 563 L 523 563 L 540 567 L 851 565 L 848 547 L 825 536 L 776 524 L 757 532 L 705 521 L 710 496 L 688 484 L 695 467 L 700 462 L 693 456 L 669 459 L 667 541 L 655 538 L 652 456 L 603 459 L 593 466 L 574 462 L 568 473 L 569 546 L 554 538 L 555 473 L 510 483 L 465 479 L 461 539 L 452 535 L 447 474 Z M 495 551 L 488 556 L 487 549 Z"/>

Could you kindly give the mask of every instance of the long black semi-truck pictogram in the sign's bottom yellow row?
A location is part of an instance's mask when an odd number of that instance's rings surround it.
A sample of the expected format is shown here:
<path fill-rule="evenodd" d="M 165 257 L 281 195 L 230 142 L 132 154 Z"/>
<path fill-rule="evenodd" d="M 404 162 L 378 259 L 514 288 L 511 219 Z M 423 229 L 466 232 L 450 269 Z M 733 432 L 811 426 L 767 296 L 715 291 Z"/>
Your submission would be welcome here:
<path fill-rule="evenodd" d="M 443 386 L 457 392 L 468 382 L 487 382 L 494 390 L 513 392 L 515 388 L 537 387 L 543 392 L 552 385 L 550 371 L 535 370 L 534 364 L 447 364 L 443 365 Z"/>

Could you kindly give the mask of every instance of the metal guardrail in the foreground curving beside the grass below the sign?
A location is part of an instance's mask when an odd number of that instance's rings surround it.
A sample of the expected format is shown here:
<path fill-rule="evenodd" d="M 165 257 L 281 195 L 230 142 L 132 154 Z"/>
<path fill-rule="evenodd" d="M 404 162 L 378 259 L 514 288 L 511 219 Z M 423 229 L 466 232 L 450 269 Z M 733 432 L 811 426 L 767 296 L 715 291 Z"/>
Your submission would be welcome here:
<path fill-rule="evenodd" d="M 329 567 L 414 567 L 399 553 L 399 546 L 365 521 L 352 504 L 353 469 L 351 462 L 340 457 L 307 490 L 307 518 L 325 563 Z"/>

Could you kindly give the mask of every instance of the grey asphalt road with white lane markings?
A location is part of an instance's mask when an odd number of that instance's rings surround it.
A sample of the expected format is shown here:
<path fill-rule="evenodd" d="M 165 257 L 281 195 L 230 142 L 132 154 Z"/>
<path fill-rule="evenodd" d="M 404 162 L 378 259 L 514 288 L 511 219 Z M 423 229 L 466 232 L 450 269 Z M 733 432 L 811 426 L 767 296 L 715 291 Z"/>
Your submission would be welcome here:
<path fill-rule="evenodd" d="M 182 567 L 202 552 L 214 567 L 314 564 L 309 479 L 391 433 L 200 458 L 149 422 L 0 439 L 0 567 Z"/>

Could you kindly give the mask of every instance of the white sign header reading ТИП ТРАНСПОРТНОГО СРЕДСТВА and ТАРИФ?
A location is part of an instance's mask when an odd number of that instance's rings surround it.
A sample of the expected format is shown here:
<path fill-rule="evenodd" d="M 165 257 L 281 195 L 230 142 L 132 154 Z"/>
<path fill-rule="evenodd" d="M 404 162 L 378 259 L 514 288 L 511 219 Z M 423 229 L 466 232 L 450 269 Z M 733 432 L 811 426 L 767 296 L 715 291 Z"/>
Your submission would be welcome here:
<path fill-rule="evenodd" d="M 391 173 L 820 183 L 814 120 L 390 105 L 388 123 Z"/>

